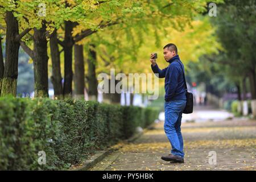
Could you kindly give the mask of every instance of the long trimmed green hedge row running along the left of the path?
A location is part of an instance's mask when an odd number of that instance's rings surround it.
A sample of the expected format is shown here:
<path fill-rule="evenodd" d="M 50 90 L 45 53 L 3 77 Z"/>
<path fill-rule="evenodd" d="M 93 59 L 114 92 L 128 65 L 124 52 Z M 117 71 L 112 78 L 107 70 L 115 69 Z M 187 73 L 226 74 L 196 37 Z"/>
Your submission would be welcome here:
<path fill-rule="evenodd" d="M 48 98 L 0 98 L 0 170 L 58 170 L 134 134 L 159 111 Z M 39 151 L 46 164 L 39 165 Z"/>

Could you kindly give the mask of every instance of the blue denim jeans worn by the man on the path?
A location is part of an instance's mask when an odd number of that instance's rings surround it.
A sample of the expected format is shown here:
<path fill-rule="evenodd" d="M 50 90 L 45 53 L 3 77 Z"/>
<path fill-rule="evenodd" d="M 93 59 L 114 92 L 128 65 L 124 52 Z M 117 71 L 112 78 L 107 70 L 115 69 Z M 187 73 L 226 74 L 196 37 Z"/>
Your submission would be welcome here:
<path fill-rule="evenodd" d="M 171 154 L 181 158 L 184 158 L 184 152 L 180 126 L 186 102 L 186 100 L 179 100 L 164 103 L 164 131 L 172 146 Z"/>

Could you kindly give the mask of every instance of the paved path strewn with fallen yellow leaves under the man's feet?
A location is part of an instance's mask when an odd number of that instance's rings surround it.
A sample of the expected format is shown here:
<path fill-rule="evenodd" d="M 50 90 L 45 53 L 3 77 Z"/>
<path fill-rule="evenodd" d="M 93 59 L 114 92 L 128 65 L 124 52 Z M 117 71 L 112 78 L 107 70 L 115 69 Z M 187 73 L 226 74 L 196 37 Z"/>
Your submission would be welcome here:
<path fill-rule="evenodd" d="M 181 132 L 184 164 L 160 159 L 171 148 L 163 122 L 159 122 L 154 129 L 106 156 L 90 170 L 256 170 L 255 120 L 182 123 Z"/>

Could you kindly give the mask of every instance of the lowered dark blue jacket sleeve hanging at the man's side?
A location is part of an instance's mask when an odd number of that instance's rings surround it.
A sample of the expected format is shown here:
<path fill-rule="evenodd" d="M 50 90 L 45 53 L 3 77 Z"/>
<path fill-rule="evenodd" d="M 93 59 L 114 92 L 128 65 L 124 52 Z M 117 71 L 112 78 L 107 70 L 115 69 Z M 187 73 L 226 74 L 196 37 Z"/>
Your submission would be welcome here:
<path fill-rule="evenodd" d="M 179 76 L 179 70 L 175 65 L 170 65 L 168 69 L 170 69 L 170 75 L 167 93 L 166 96 L 164 97 L 164 100 L 166 101 L 170 101 L 171 98 L 174 97 L 175 90 L 177 88 L 177 78 Z"/>

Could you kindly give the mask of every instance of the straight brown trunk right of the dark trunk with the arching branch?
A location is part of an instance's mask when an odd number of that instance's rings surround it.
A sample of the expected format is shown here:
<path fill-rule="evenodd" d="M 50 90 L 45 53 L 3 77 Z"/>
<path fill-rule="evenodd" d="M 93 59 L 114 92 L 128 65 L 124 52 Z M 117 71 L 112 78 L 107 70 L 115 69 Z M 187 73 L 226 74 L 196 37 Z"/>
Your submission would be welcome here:
<path fill-rule="evenodd" d="M 76 97 L 84 98 L 84 47 L 82 45 L 75 44 L 75 94 Z"/>

